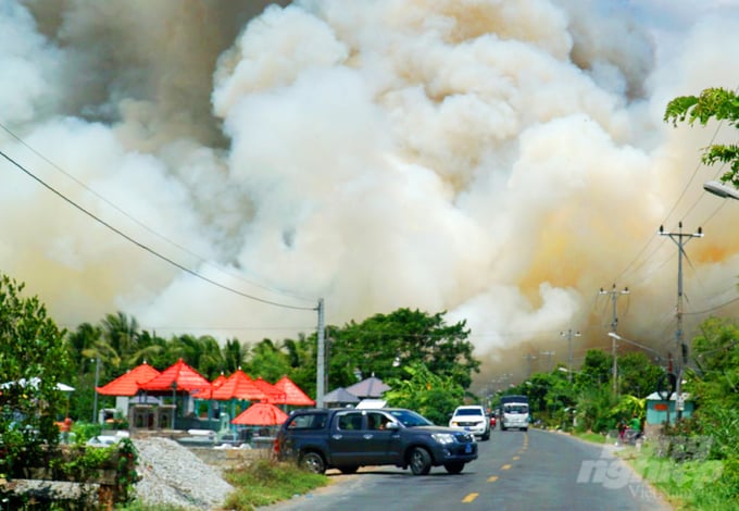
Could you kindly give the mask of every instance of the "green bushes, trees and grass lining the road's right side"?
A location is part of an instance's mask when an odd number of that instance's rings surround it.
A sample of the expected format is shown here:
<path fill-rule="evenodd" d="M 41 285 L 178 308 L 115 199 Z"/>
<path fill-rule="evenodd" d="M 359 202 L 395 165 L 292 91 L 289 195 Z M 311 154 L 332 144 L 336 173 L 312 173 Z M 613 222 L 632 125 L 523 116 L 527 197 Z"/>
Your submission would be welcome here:
<path fill-rule="evenodd" d="M 696 411 L 663 425 L 622 456 L 679 510 L 739 509 L 739 327 L 710 317 L 692 341 L 682 391 Z M 636 414 L 644 419 L 643 396 L 656 389 L 664 370 L 642 353 L 618 358 L 617 394 L 612 359 L 589 351 L 571 376 L 560 366 L 537 373 L 509 390 L 529 396 L 535 424 L 597 443 L 615 443 L 617 425 Z"/>

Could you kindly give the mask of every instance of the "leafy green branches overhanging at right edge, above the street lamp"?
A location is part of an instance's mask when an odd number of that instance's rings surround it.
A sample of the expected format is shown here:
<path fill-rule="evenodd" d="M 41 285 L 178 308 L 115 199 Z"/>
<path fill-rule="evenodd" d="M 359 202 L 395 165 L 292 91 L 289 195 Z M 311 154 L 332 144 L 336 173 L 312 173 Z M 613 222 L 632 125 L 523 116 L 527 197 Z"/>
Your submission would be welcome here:
<path fill-rule="evenodd" d="M 729 126 L 738 127 L 739 123 L 739 96 L 736 92 L 723 88 L 704 89 L 700 96 L 681 96 L 667 103 L 665 109 L 665 122 L 687 122 L 693 125 L 699 122 L 705 126 L 709 121 L 726 121 Z M 728 163 L 721 179 L 739 188 L 739 146 L 714 144 L 703 150 L 703 163 Z"/>

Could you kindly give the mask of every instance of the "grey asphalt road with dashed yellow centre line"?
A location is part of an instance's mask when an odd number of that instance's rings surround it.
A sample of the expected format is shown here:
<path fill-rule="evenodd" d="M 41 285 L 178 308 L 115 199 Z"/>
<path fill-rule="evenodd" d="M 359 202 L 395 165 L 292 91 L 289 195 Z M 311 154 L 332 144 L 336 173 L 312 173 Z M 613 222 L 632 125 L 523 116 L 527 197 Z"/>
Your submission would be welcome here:
<path fill-rule="evenodd" d="M 333 484 L 261 510 L 669 510 L 603 448 L 568 435 L 496 429 L 458 475 L 440 468 L 414 476 L 394 466 L 328 471 Z"/>

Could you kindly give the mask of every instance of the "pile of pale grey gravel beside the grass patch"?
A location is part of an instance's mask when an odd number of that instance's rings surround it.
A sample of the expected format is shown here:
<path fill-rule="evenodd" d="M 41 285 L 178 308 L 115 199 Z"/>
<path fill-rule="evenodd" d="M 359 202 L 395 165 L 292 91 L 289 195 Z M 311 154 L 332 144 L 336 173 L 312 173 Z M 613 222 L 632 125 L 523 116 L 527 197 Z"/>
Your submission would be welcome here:
<path fill-rule="evenodd" d="M 136 497 L 149 506 L 217 510 L 234 487 L 216 469 L 168 438 L 134 439 L 141 479 Z"/>

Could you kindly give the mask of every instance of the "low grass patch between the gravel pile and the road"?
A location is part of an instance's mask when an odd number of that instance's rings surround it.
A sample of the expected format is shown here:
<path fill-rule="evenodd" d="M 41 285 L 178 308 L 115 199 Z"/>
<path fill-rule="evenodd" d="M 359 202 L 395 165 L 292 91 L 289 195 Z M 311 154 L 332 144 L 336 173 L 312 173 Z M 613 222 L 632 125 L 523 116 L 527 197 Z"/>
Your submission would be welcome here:
<path fill-rule="evenodd" d="M 277 462 L 267 458 L 229 470 L 224 476 L 237 488 L 228 496 L 224 506 L 239 511 L 270 506 L 328 484 L 328 477 L 323 474 L 313 474 L 296 463 Z"/>

